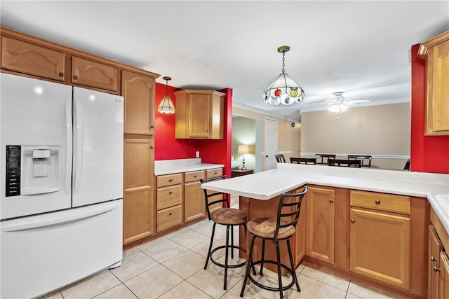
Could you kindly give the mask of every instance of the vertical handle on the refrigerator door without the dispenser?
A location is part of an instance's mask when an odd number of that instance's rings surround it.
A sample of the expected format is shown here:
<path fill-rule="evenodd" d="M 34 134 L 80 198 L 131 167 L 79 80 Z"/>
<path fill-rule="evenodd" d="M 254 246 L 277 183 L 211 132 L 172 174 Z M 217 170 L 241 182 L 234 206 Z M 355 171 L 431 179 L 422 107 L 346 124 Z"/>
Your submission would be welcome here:
<path fill-rule="evenodd" d="M 75 135 L 75 146 L 74 146 L 74 183 L 73 183 L 73 193 L 79 193 L 79 187 L 81 186 L 81 173 L 83 170 L 83 118 L 81 115 L 81 102 L 78 99 L 74 99 L 74 120 L 76 124 L 74 125 L 74 135 Z"/>

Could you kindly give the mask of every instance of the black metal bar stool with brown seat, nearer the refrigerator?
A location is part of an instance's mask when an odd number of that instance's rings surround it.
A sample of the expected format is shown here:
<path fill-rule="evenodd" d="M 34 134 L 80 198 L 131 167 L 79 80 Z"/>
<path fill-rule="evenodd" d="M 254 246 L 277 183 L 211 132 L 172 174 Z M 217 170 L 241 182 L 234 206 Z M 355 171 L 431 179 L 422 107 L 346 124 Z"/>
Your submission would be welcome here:
<path fill-rule="evenodd" d="M 212 179 L 200 179 L 201 183 L 207 183 L 210 181 L 216 181 L 219 179 L 226 179 L 226 176 L 217 176 Z M 229 194 L 222 193 L 222 192 L 214 192 L 210 193 L 208 190 L 203 189 L 204 191 L 204 197 L 206 199 L 206 211 L 208 213 L 209 220 L 213 221 L 213 227 L 212 227 L 212 236 L 210 237 L 210 245 L 208 250 L 208 256 L 206 258 L 206 264 L 204 265 L 204 270 L 208 267 L 208 261 L 210 258 L 210 261 L 214 263 L 215 265 L 219 267 L 225 268 L 225 284 L 223 286 L 223 289 L 227 289 L 227 270 L 229 268 L 237 268 L 242 267 L 245 265 L 246 261 L 243 261 L 243 263 L 239 263 L 236 265 L 229 265 L 229 254 L 228 249 L 231 249 L 231 258 L 234 258 L 234 249 L 239 249 L 243 252 L 246 252 L 246 249 L 244 249 L 241 246 L 234 245 L 234 226 L 236 225 L 243 225 L 243 228 L 245 228 L 245 235 L 246 235 L 246 211 L 241 211 L 240 209 L 233 209 L 229 207 Z M 209 200 L 211 199 L 212 200 Z M 225 208 L 219 208 L 210 213 L 210 206 L 217 203 L 223 203 L 225 202 L 226 207 Z M 213 246 L 213 237 L 215 235 L 215 225 L 221 224 L 226 225 L 226 245 L 217 246 L 215 249 L 212 249 Z M 231 245 L 229 245 L 229 229 L 231 230 Z M 225 249 L 225 263 L 219 263 L 215 258 L 213 258 L 213 253 L 219 249 Z"/>

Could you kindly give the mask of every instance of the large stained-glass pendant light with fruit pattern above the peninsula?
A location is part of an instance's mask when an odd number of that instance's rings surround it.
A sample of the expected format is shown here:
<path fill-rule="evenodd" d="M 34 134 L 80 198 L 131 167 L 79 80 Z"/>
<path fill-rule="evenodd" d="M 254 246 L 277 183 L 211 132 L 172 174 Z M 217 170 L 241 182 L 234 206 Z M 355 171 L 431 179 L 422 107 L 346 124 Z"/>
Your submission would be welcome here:
<path fill-rule="evenodd" d="M 290 50 L 290 46 L 281 46 L 278 52 L 282 53 L 282 73 L 279 77 L 269 85 L 269 88 L 264 91 L 263 99 L 265 103 L 272 105 L 290 105 L 293 103 L 300 103 L 304 99 L 304 90 L 297 85 L 285 69 L 285 55 Z"/>

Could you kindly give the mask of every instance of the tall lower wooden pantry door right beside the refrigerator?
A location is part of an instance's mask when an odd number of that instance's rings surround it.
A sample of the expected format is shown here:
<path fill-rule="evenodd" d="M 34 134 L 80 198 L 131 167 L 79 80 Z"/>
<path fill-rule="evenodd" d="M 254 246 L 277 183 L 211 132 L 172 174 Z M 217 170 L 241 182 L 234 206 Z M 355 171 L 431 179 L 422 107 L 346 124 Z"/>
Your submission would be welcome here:
<path fill-rule="evenodd" d="M 124 140 L 123 244 L 154 234 L 154 140 Z"/>

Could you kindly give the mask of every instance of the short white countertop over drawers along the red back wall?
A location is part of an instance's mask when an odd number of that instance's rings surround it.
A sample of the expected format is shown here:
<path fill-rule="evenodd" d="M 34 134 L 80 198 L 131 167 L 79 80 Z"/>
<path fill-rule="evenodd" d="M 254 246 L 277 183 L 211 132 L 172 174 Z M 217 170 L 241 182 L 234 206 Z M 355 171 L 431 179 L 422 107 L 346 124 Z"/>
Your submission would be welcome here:
<path fill-rule="evenodd" d="M 214 168 L 223 168 L 222 164 L 201 163 L 201 158 L 154 161 L 154 175 L 196 172 Z"/>

